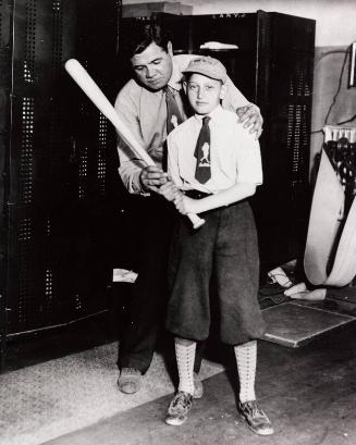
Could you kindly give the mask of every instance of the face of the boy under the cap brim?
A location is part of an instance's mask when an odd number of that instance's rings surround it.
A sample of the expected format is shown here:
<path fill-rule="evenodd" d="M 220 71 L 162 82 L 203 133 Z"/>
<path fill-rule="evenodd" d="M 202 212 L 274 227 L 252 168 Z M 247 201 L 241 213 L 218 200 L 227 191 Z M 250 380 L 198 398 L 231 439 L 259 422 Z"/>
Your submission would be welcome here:
<path fill-rule="evenodd" d="M 197 114 L 208 114 L 223 99 L 225 86 L 220 81 L 194 73 L 186 84 L 186 92 L 193 110 Z"/>

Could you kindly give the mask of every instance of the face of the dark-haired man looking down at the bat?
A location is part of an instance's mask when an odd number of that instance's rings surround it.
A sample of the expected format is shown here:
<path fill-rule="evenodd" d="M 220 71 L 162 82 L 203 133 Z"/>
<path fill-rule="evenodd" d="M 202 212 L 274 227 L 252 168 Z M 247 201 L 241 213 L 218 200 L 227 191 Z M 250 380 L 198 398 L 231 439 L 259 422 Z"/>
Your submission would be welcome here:
<path fill-rule="evenodd" d="M 172 57 L 156 44 L 131 59 L 137 81 L 154 91 L 162 89 L 172 75 Z"/>

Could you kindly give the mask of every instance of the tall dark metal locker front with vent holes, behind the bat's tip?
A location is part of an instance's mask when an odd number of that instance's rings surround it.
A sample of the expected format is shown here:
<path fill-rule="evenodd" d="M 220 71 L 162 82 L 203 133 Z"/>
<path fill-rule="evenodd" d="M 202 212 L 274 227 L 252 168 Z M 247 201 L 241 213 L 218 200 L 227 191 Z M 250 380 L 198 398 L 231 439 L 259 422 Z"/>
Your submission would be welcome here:
<path fill-rule="evenodd" d="M 77 58 L 110 96 L 121 2 L 15 0 L 9 128 L 8 334 L 107 308 L 119 211 L 114 134 L 63 70 Z"/>

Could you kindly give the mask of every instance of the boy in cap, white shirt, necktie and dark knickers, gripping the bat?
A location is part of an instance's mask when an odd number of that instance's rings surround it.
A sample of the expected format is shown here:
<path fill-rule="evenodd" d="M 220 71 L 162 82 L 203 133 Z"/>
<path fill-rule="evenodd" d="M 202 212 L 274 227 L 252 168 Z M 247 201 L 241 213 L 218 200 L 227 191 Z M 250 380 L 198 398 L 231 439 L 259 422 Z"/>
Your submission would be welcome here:
<path fill-rule="evenodd" d="M 175 337 L 180 384 L 165 422 L 181 425 L 192 407 L 195 349 L 209 334 L 213 274 L 221 339 L 233 346 L 237 362 L 238 412 L 255 433 L 268 435 L 273 429 L 255 396 L 256 338 L 265 332 L 265 323 L 257 300 L 257 235 L 247 201 L 262 182 L 259 145 L 235 113 L 220 106 L 226 71 L 218 60 L 195 59 L 184 74 L 195 115 L 168 137 L 173 183 L 162 186 L 161 193 L 177 186 L 184 194 L 176 193 L 175 207 L 182 214 L 202 213 L 206 222 L 194 231 L 182 217 L 174 233 L 167 327 Z"/>

